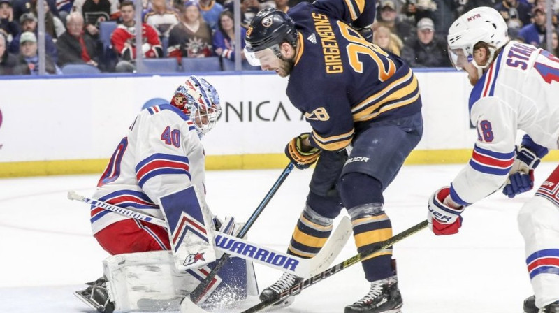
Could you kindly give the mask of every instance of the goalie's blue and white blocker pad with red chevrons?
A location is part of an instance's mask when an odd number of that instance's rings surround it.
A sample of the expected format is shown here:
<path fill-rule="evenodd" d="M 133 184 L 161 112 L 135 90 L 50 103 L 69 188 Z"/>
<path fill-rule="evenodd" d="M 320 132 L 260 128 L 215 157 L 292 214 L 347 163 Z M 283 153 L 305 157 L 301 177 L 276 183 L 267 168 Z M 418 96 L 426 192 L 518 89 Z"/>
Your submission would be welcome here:
<path fill-rule="evenodd" d="M 215 261 L 213 221 L 194 186 L 159 198 L 169 225 L 171 251 L 179 270 Z"/>

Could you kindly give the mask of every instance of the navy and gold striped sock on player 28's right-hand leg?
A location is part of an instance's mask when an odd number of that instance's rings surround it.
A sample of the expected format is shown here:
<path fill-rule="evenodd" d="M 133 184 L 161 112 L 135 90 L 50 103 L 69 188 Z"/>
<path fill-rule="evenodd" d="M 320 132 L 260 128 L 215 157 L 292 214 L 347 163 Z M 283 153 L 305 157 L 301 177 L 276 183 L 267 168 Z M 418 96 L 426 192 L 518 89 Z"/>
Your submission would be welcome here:
<path fill-rule="evenodd" d="M 372 249 L 392 237 L 392 224 L 382 209 L 382 203 L 359 205 L 347 212 L 351 216 L 358 252 Z M 369 282 L 374 282 L 394 275 L 391 259 L 392 247 L 363 259 L 361 265 L 365 271 L 365 278 Z"/>

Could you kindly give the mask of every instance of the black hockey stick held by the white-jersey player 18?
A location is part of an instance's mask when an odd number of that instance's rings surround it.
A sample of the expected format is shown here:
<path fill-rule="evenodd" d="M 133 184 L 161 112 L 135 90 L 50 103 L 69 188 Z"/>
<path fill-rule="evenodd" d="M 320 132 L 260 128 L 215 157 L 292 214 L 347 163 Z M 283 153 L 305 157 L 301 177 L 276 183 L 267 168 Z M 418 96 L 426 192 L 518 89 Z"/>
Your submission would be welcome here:
<path fill-rule="evenodd" d="M 391 247 L 396 242 L 399 242 L 400 240 L 407 238 L 410 235 L 413 235 L 414 233 L 417 233 L 418 231 L 421 231 L 421 229 L 426 227 L 427 227 L 427 221 L 422 221 L 421 223 L 415 226 L 407 228 L 405 231 L 402 231 L 402 233 L 399 233 L 398 235 L 395 235 L 388 240 L 384 240 L 384 242 L 380 243 L 379 246 L 375 248 L 368 249 L 364 252 L 361 252 L 360 254 L 357 254 L 356 256 L 352 256 L 351 258 L 343 261 L 342 263 L 339 263 L 331 268 L 328 268 L 328 270 L 325 270 L 324 272 L 321 272 L 315 275 L 314 277 L 311 277 L 310 279 L 306 279 L 303 282 L 293 285 L 290 289 L 281 293 L 277 298 L 263 301 L 257 305 L 254 305 L 253 307 L 249 307 L 249 309 L 242 311 L 241 313 L 258 312 L 264 309 L 265 307 L 269 307 L 270 305 L 273 305 L 274 303 L 283 300 L 284 298 L 287 298 L 289 296 L 296 296 L 301 291 L 303 291 L 303 289 L 306 289 L 314 284 L 317 284 L 318 282 L 321 282 L 322 280 L 334 275 L 337 272 L 349 268 L 349 266 L 358 263 L 359 261 L 365 259 L 367 256 L 370 256 L 371 254 L 375 254 L 381 251 L 382 249 Z"/>

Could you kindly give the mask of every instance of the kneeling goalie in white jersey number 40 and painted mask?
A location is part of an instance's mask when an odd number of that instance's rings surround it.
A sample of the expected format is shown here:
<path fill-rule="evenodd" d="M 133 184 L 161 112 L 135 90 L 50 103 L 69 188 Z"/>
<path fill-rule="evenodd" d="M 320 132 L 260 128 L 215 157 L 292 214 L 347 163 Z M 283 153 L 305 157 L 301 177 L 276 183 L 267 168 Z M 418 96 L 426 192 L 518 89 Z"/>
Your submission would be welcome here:
<path fill-rule="evenodd" d="M 173 305 L 157 306 L 157 300 L 169 298 L 177 309 L 175 296 L 184 296 L 210 272 L 205 265 L 216 259 L 214 222 L 205 205 L 201 138 L 220 113 L 216 89 L 192 75 L 170 104 L 138 114 L 93 198 L 165 219 L 168 229 L 92 205 L 94 237 L 112 256 L 103 261 L 104 277 L 77 291 L 78 298 L 100 312 L 170 309 Z M 247 272 L 244 264 L 240 268 Z M 222 282 L 218 279 L 212 288 Z"/>

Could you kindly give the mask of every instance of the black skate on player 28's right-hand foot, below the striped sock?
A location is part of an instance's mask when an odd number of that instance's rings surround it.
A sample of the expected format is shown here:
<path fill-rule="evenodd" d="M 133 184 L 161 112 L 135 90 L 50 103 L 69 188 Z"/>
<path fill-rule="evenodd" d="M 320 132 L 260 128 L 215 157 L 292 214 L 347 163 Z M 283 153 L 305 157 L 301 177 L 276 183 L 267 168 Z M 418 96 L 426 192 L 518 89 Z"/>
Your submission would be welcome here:
<path fill-rule="evenodd" d="M 371 283 L 369 292 L 356 303 L 345 307 L 345 313 L 400 313 L 402 295 L 398 279 L 392 276 Z"/>

